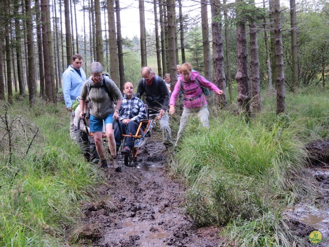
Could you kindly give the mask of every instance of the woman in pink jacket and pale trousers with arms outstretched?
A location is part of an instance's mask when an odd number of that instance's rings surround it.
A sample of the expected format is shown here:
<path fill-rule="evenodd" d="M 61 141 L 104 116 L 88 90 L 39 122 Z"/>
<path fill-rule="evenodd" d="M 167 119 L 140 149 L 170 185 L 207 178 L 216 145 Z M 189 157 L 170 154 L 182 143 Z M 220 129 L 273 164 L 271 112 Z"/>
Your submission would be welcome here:
<path fill-rule="evenodd" d="M 184 63 L 180 66 L 180 76 L 175 85 L 174 91 L 171 93 L 169 101 L 169 114 L 175 113 L 175 103 L 179 93 L 183 94 L 184 110 L 180 117 L 180 125 L 177 133 L 177 140 L 181 132 L 187 125 L 187 118 L 197 114 L 203 126 L 209 128 L 209 111 L 206 96 L 203 93 L 202 87 L 208 87 L 216 94 L 223 94 L 223 91 L 218 89 L 213 83 L 200 76 L 198 72 L 192 70 L 190 63 Z"/>

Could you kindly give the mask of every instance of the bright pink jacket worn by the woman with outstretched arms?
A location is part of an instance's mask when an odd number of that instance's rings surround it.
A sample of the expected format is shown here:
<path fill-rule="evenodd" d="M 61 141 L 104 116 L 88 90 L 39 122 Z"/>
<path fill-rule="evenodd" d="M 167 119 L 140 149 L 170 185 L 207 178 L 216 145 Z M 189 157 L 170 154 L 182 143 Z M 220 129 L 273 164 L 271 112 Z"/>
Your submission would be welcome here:
<path fill-rule="evenodd" d="M 183 90 L 184 90 L 184 107 L 185 108 L 199 108 L 203 105 L 207 104 L 207 100 L 205 95 L 202 92 L 202 89 L 195 81 L 195 78 L 197 77 L 198 82 L 200 85 L 204 87 L 208 87 L 208 89 L 212 90 L 213 92 L 217 93 L 220 89 L 218 89 L 217 86 L 215 86 L 213 83 L 208 81 L 203 76 L 200 76 L 198 72 L 192 71 L 191 72 L 191 78 L 189 82 L 186 82 L 184 80 L 184 76 L 180 75 L 178 78 L 178 81 L 175 84 L 174 91 L 171 93 L 169 105 L 175 105 L 176 99 L 178 97 L 180 89 L 180 82 L 183 83 Z"/>

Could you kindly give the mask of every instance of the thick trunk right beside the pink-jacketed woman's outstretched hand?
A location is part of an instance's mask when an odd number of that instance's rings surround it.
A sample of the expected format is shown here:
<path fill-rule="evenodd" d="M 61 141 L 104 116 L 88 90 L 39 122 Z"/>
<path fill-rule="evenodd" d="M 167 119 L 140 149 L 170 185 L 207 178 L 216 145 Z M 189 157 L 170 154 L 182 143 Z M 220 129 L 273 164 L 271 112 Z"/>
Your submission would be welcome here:
<path fill-rule="evenodd" d="M 215 95 L 215 104 L 221 108 L 227 108 L 227 98 L 226 98 L 226 81 L 225 81 L 225 64 L 224 64 L 224 49 L 223 49 L 223 39 L 222 39 L 222 19 L 220 16 L 220 1 L 211 0 L 211 17 L 212 17 L 212 50 L 213 50 L 213 66 L 214 66 L 214 79 L 213 82 L 221 90 L 223 90 L 222 95 Z"/>

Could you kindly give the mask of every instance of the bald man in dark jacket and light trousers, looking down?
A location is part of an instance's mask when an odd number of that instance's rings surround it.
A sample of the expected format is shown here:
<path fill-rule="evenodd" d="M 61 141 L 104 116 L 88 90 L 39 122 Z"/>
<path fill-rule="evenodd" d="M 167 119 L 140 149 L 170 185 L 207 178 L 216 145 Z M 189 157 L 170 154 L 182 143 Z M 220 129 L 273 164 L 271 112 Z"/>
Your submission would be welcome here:
<path fill-rule="evenodd" d="M 160 129 L 162 130 L 163 144 L 166 148 L 173 145 L 171 138 L 171 130 L 169 126 L 168 107 L 170 94 L 165 81 L 161 77 L 155 75 L 151 67 L 143 67 L 142 79 L 137 86 L 137 95 L 141 97 L 146 95 L 146 103 L 149 108 L 149 118 L 154 119 L 156 116 L 161 116 L 159 119 Z"/>

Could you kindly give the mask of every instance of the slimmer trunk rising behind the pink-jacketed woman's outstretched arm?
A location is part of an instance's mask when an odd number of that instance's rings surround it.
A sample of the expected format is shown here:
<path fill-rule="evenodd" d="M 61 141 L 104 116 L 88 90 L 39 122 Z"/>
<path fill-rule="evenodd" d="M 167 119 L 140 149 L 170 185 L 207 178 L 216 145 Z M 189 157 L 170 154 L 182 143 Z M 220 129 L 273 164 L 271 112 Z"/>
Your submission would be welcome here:
<path fill-rule="evenodd" d="M 202 25 L 202 43 L 204 50 L 204 73 L 205 73 L 205 78 L 209 81 L 212 81 L 207 0 L 201 0 L 201 25 Z"/>

